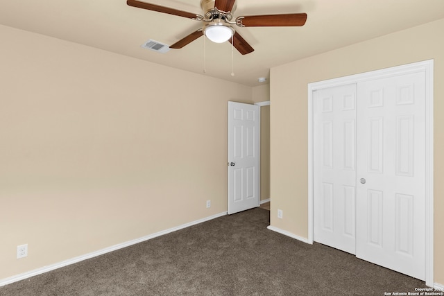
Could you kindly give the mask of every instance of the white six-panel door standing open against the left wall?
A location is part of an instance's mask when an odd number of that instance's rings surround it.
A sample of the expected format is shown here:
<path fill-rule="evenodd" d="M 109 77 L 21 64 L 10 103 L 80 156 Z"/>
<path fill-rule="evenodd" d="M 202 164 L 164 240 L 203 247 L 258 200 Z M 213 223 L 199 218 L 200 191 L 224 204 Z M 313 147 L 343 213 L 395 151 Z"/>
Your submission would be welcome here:
<path fill-rule="evenodd" d="M 259 207 L 259 106 L 228 102 L 228 214 Z"/>

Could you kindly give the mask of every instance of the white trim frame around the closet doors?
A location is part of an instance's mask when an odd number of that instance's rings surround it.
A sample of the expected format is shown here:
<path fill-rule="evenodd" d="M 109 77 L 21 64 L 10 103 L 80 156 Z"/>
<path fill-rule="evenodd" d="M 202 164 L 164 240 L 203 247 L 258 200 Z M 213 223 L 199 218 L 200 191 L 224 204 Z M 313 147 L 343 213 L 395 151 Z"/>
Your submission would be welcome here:
<path fill-rule="evenodd" d="M 413 62 L 308 84 L 308 243 L 314 241 L 313 94 L 318 89 L 425 72 L 425 284 L 434 286 L 434 60 Z"/>

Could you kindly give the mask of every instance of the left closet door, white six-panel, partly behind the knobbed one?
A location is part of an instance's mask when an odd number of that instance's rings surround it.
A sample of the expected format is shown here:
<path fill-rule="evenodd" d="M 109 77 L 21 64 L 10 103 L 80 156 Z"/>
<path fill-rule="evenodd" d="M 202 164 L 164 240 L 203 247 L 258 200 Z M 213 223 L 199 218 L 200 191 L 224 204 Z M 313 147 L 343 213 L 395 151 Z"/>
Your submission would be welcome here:
<path fill-rule="evenodd" d="M 356 85 L 314 94 L 314 240 L 355 254 Z"/>

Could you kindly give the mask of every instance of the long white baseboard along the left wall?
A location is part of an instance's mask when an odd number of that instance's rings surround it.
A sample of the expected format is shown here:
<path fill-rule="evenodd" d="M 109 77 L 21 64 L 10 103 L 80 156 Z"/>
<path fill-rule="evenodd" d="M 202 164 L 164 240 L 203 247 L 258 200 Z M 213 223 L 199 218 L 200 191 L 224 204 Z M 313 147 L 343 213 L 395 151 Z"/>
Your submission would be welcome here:
<path fill-rule="evenodd" d="M 171 232 L 176 232 L 176 231 L 178 231 L 180 229 L 184 229 L 184 228 L 187 228 L 187 227 L 190 227 L 190 226 L 193 226 L 193 225 L 196 225 L 196 224 L 200 224 L 200 223 L 203 223 L 203 222 L 215 219 L 215 218 L 219 218 L 221 216 L 225 216 L 226 214 L 227 214 L 227 212 L 224 211 L 222 213 L 219 213 L 219 214 L 216 214 L 216 215 L 213 215 L 213 216 L 210 216 L 210 217 L 206 217 L 206 218 L 202 218 L 202 219 L 199 219 L 199 220 L 195 220 L 195 221 L 192 221 L 190 223 L 185 223 L 185 224 L 180 225 L 178 227 L 173 227 L 173 228 L 170 228 L 170 229 L 163 230 L 162 232 L 156 232 L 155 234 L 150 234 L 150 235 L 144 236 L 142 238 L 136 238 L 136 239 L 134 239 L 132 241 L 127 241 L 125 243 L 119 243 L 117 245 L 112 245 L 111 247 L 105 247 L 105 249 L 98 250 L 96 252 L 84 254 L 82 256 L 77 256 L 75 258 L 71 258 L 71 259 L 68 259 L 68 260 L 65 260 L 65 261 L 62 261 L 62 262 L 58 262 L 58 263 L 55 263 L 55 264 L 44 266 L 42 268 L 37 268 L 37 269 L 31 270 L 29 272 L 24 272 L 24 273 L 19 274 L 19 275 L 15 275 L 15 276 L 12 276 L 12 277 L 7 277 L 6 279 L 0 279 L 0 287 L 8 285 L 8 284 L 12 284 L 15 281 L 22 281 L 22 279 L 28 279 L 29 277 L 34 277 L 35 275 L 41 275 L 42 273 L 49 272 L 51 270 L 56 270 L 58 268 L 62 268 L 62 267 L 67 266 L 67 265 L 78 263 L 78 262 L 86 260 L 86 259 L 91 259 L 91 258 L 94 258 L 96 256 L 100 256 L 102 254 L 106 254 L 106 253 L 109 253 L 109 252 L 112 252 L 112 251 L 115 251 L 115 250 L 119 250 L 119 249 L 122 249 L 123 247 L 129 247 L 130 245 L 135 245 L 136 243 L 142 243 L 143 241 L 148 241 L 148 240 L 150 240 L 152 238 L 156 238 L 157 236 L 163 236 L 164 234 L 169 234 Z"/>

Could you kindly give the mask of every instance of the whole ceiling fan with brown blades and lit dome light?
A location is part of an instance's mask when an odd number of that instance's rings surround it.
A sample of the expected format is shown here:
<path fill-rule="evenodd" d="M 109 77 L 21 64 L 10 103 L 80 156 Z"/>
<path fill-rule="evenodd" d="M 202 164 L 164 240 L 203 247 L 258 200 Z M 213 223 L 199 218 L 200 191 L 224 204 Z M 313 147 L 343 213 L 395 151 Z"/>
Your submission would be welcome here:
<path fill-rule="evenodd" d="M 128 6 L 153 10 L 187 17 L 196 21 L 203 21 L 203 28 L 183 37 L 181 40 L 169 46 L 171 49 L 181 49 L 183 46 L 193 42 L 200 36 L 207 36 L 213 42 L 222 43 L 229 41 L 239 51 L 245 55 L 254 51 L 253 47 L 244 40 L 232 25 L 239 27 L 260 27 L 260 26 L 303 26 L 307 20 L 306 13 L 291 13 L 283 15 L 250 15 L 237 17 L 234 21 L 233 13 L 236 10 L 236 0 L 200 0 L 200 7 L 203 15 L 196 15 L 191 12 L 176 10 L 164 6 L 158 6 L 137 0 L 127 0 Z"/>

